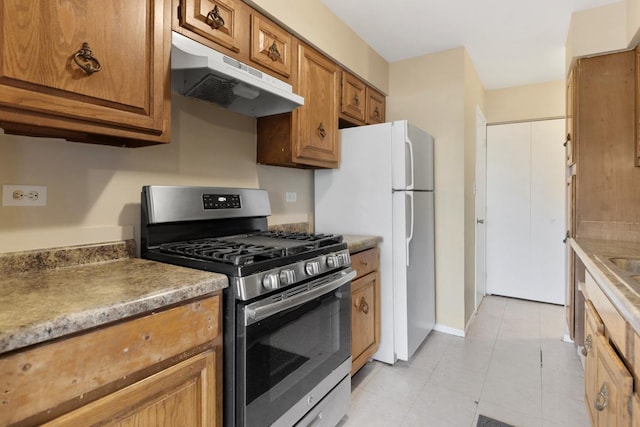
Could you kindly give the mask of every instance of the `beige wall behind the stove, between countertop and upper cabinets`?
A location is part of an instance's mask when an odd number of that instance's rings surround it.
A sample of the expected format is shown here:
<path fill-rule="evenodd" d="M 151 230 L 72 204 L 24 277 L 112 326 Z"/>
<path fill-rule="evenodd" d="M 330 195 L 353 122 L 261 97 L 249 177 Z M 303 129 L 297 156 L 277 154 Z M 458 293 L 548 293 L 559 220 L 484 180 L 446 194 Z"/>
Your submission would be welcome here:
<path fill-rule="evenodd" d="M 265 188 L 272 223 L 307 221 L 311 172 L 257 166 L 255 139 L 255 119 L 179 95 L 168 145 L 123 149 L 0 135 L 0 183 L 48 187 L 46 207 L 0 208 L 0 252 L 137 237 L 147 184 Z M 297 202 L 285 204 L 286 191 L 297 192 Z"/>

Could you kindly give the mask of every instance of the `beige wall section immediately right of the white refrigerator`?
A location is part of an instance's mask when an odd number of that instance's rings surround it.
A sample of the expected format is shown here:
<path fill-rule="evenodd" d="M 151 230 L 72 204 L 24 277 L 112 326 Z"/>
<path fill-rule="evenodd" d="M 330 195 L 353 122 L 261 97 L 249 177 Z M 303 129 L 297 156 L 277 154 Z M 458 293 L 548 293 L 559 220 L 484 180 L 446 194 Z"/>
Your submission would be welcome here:
<path fill-rule="evenodd" d="M 464 328 L 465 50 L 390 65 L 387 119 L 435 138 L 436 322 Z"/>

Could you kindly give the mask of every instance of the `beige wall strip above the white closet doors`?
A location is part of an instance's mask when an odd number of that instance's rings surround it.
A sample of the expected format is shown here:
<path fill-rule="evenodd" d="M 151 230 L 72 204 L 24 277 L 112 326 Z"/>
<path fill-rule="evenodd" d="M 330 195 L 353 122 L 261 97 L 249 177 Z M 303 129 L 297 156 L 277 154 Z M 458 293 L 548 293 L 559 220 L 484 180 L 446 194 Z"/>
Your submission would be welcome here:
<path fill-rule="evenodd" d="M 484 112 L 489 124 L 564 117 L 565 82 L 488 90 Z"/>

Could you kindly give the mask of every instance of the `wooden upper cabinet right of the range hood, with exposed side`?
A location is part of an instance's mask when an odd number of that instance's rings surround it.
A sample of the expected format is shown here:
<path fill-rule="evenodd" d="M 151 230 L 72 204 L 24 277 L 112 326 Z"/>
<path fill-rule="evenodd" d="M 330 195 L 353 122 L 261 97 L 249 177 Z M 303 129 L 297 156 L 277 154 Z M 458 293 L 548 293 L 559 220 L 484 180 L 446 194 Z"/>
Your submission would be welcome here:
<path fill-rule="evenodd" d="M 337 168 L 340 69 L 302 43 L 297 50 L 297 92 L 305 105 L 291 113 L 258 118 L 258 163 Z"/>

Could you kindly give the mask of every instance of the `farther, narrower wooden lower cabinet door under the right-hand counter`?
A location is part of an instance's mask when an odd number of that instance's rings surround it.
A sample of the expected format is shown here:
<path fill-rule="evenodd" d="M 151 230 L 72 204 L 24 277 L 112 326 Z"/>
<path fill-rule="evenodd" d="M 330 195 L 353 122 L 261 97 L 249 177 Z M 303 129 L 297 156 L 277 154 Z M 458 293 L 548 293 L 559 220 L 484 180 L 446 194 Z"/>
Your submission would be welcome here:
<path fill-rule="evenodd" d="M 587 402 L 587 409 L 589 410 L 589 416 L 593 423 L 596 420 L 597 414 L 592 403 L 595 402 L 598 393 L 598 358 L 596 345 L 599 337 L 604 334 L 604 325 L 589 301 L 585 302 L 584 323 L 585 339 L 582 349 L 584 356 L 584 399 L 585 402 Z"/>

